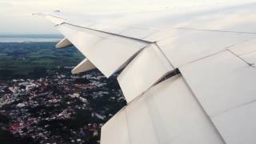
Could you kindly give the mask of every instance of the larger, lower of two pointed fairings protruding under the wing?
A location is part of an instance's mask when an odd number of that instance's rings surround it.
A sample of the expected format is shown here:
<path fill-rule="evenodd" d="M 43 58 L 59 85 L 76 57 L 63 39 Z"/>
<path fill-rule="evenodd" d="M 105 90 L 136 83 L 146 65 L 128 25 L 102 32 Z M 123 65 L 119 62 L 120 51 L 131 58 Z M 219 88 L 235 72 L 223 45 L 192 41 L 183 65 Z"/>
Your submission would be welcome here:
<path fill-rule="evenodd" d="M 82 62 L 78 64 L 78 66 L 75 66 L 74 69 L 71 71 L 72 74 L 78 74 L 82 72 L 86 72 L 89 70 L 94 70 L 96 67 L 94 64 L 92 64 L 87 58 L 84 59 Z"/>

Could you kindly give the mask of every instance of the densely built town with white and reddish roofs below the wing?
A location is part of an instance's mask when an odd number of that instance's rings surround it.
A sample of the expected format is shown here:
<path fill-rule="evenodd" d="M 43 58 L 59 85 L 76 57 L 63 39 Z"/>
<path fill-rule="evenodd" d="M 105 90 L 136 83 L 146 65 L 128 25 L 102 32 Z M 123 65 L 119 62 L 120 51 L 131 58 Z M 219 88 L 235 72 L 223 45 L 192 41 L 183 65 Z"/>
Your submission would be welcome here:
<path fill-rule="evenodd" d="M 1 143 L 99 143 L 102 125 L 126 105 L 116 77 L 92 70 L 0 81 Z"/>

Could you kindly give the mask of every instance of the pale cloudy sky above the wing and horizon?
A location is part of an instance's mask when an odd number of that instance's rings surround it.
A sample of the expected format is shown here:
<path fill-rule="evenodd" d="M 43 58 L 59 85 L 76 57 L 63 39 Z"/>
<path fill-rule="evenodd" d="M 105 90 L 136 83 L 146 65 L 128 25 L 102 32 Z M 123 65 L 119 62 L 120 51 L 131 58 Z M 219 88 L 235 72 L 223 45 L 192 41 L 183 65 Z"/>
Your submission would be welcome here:
<path fill-rule="evenodd" d="M 238 0 L 0 0 L 0 34 L 59 34 L 46 19 L 32 16 L 33 13 L 53 10 L 78 14 L 118 14 L 235 1 Z"/>

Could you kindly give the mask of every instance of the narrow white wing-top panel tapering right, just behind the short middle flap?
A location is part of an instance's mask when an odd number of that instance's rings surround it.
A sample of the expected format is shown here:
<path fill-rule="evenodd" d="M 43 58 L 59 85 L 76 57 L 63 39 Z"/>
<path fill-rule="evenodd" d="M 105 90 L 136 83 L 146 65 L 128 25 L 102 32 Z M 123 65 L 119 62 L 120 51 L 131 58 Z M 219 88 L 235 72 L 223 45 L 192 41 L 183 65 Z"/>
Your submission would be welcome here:
<path fill-rule="evenodd" d="M 254 34 L 189 30 L 158 42 L 175 68 L 255 38 Z"/>

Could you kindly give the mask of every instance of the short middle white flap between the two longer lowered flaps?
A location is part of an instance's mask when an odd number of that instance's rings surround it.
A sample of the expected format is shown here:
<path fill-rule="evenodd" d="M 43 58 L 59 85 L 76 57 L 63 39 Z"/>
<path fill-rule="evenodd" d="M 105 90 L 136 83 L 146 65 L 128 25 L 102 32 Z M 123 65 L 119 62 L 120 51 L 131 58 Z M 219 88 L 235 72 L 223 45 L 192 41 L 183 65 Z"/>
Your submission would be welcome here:
<path fill-rule="evenodd" d="M 146 47 L 118 76 L 127 102 L 141 95 L 174 68 L 154 44 Z"/>

